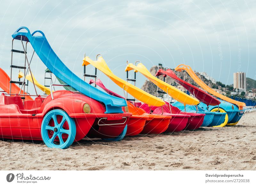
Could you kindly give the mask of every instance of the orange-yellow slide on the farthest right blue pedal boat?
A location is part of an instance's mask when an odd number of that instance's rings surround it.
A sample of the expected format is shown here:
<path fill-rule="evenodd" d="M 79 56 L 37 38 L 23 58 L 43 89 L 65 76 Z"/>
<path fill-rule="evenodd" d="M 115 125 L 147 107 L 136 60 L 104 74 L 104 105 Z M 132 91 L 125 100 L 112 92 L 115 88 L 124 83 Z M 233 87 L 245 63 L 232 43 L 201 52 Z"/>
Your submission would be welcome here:
<path fill-rule="evenodd" d="M 209 86 L 207 86 L 200 78 L 198 78 L 198 76 L 195 74 L 195 72 L 191 69 L 190 66 L 185 65 L 185 64 L 180 64 L 175 68 L 176 71 L 187 71 L 189 76 L 199 85 L 201 86 L 205 91 L 207 91 L 208 93 L 211 93 L 212 95 L 228 101 L 229 103 L 233 103 L 235 105 L 238 106 L 239 110 L 243 110 L 243 107 L 245 107 L 245 103 L 240 102 L 240 101 L 236 101 L 233 100 L 231 98 L 228 98 L 220 93 L 215 92 L 214 90 L 212 90 Z"/>

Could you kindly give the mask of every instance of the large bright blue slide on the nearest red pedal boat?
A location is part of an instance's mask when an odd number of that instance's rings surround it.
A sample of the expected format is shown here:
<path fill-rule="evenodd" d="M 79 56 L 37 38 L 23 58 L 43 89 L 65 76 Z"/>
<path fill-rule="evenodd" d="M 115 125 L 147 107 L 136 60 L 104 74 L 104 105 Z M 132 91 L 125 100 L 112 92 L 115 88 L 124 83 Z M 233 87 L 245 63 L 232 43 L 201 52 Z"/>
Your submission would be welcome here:
<path fill-rule="evenodd" d="M 25 29 L 27 32 L 19 32 L 21 29 Z M 35 33 L 41 33 L 42 36 L 34 36 Z M 104 103 L 106 106 L 105 113 L 123 113 L 122 107 L 127 106 L 126 100 L 102 92 L 77 77 L 52 50 L 42 31 L 37 30 L 31 34 L 27 27 L 22 26 L 12 34 L 12 38 L 30 42 L 36 54 L 56 77 L 78 92 Z"/>

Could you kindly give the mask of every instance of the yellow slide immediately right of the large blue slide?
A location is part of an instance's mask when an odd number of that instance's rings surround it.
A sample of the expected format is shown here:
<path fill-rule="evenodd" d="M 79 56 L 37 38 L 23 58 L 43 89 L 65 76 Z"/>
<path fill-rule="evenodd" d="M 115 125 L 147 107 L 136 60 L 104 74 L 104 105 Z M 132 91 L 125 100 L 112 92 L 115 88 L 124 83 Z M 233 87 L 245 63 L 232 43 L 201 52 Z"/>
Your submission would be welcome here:
<path fill-rule="evenodd" d="M 140 88 L 124 81 L 123 79 L 117 77 L 113 74 L 113 72 L 108 68 L 107 63 L 103 59 L 102 56 L 98 58 L 97 61 L 91 60 L 88 56 L 84 57 L 83 60 L 83 66 L 87 66 L 88 64 L 93 65 L 95 68 L 102 71 L 106 76 L 108 76 L 116 85 L 123 88 L 125 91 L 127 91 L 129 94 L 131 94 L 134 98 L 142 101 L 143 103 L 147 103 L 149 106 L 156 106 L 160 107 L 165 104 L 165 102 L 143 90 Z"/>

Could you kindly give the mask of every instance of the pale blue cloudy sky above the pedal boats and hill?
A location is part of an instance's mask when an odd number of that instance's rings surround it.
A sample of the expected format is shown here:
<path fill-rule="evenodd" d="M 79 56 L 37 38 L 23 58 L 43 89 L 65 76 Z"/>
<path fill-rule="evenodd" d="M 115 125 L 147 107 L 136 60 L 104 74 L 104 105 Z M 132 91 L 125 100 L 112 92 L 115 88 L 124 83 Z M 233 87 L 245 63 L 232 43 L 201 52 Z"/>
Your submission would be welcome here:
<path fill-rule="evenodd" d="M 158 63 L 170 68 L 187 64 L 224 84 L 232 84 L 237 71 L 256 79 L 255 1 L 26 0 L 0 4 L 0 67 L 8 74 L 11 35 L 27 26 L 30 32 L 43 31 L 55 53 L 81 78 L 85 53 L 91 59 L 102 54 L 113 73 L 123 79 L 127 60 L 140 60 L 148 69 Z M 14 41 L 14 49 L 20 47 Z M 28 46 L 29 58 L 32 52 Z M 24 64 L 24 56 L 14 55 L 15 64 Z M 45 68 L 35 55 L 31 69 L 41 84 Z M 92 66 L 87 70 L 94 73 Z M 17 73 L 13 72 L 13 79 Z M 109 89 L 122 93 L 103 73 L 98 71 L 98 77 Z M 146 80 L 139 73 L 137 79 L 138 87 Z"/>

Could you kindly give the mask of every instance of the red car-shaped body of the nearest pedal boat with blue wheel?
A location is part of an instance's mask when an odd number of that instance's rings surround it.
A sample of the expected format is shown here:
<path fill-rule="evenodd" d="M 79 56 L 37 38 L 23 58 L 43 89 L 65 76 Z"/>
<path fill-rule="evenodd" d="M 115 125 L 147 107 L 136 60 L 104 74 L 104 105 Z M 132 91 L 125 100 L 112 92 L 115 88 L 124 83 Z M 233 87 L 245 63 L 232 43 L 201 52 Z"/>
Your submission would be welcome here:
<path fill-rule="evenodd" d="M 116 137 L 124 130 L 126 123 L 129 121 L 131 113 L 123 114 L 104 114 L 104 105 L 91 98 L 71 91 L 55 91 L 51 95 L 42 99 L 37 97 L 34 102 L 29 103 L 31 109 L 23 106 L 19 96 L 0 96 L 0 138 L 8 139 L 26 139 L 42 140 L 41 124 L 44 115 L 53 109 L 62 109 L 74 119 L 76 124 L 75 141 L 79 141 L 86 135 L 92 138 Z M 93 105 L 91 113 L 83 112 L 84 103 Z M 98 124 L 99 118 L 107 118 L 108 124 L 124 123 L 120 125 L 100 126 L 97 132 L 91 132 L 92 126 Z M 121 118 L 121 119 L 120 119 Z"/>

